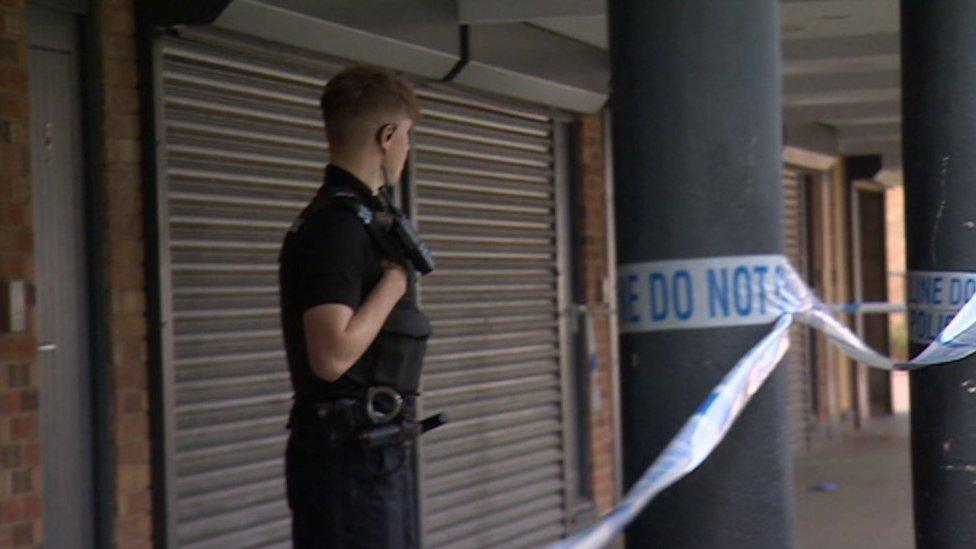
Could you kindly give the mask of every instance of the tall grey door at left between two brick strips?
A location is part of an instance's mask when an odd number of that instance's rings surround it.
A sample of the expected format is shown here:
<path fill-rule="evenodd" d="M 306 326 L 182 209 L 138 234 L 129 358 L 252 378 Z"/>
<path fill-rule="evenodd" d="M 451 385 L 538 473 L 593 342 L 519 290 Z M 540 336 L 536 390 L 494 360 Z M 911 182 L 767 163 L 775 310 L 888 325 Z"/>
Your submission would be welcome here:
<path fill-rule="evenodd" d="M 93 413 L 76 21 L 40 9 L 28 17 L 44 543 L 85 548 Z"/>

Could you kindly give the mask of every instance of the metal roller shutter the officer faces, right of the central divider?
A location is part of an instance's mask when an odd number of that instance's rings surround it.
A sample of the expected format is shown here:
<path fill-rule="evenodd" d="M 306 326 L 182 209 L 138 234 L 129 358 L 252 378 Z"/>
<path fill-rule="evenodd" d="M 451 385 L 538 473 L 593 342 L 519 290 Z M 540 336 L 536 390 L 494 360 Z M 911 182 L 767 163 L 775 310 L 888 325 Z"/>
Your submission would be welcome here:
<path fill-rule="evenodd" d="M 422 405 L 425 546 L 531 547 L 565 532 L 565 376 L 553 120 L 421 92 L 414 209 L 438 270 Z"/>

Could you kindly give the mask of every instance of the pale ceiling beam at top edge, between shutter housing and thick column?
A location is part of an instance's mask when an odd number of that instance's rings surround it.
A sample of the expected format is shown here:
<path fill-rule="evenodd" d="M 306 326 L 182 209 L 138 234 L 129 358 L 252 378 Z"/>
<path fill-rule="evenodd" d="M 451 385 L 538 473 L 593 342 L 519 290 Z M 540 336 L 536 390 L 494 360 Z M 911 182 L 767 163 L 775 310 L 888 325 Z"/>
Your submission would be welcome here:
<path fill-rule="evenodd" d="M 520 23 L 551 17 L 606 15 L 606 0 L 457 0 L 462 24 Z"/>

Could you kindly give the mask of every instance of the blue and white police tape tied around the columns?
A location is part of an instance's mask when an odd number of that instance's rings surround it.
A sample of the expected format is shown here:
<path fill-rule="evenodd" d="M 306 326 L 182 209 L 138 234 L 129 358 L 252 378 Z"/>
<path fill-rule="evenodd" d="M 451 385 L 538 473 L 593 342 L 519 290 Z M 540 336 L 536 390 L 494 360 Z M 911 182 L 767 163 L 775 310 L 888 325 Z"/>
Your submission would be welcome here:
<path fill-rule="evenodd" d="M 756 271 L 755 266 L 760 270 Z M 785 268 L 778 268 L 784 265 Z M 750 269 L 750 266 L 753 267 Z M 772 269 L 770 269 L 772 267 Z M 723 269 L 725 270 L 723 274 Z M 730 270 L 731 269 L 731 270 Z M 763 271 L 765 269 L 765 271 Z M 751 271 L 744 273 L 743 270 Z M 731 272 L 732 278 L 728 278 Z M 740 273 L 739 282 L 735 274 Z M 767 276 L 772 273 L 773 276 Z M 927 273 L 930 275 L 931 273 Z M 966 275 L 966 273 L 954 273 Z M 748 282 L 746 278 L 748 276 Z M 722 277 L 730 284 L 722 283 Z M 624 279 L 626 278 L 626 284 Z M 965 295 L 967 278 L 960 281 Z M 974 278 L 976 280 L 976 278 Z M 704 284 L 702 283 L 704 281 Z M 712 282 L 716 283 L 713 284 Z M 670 285 L 669 285 L 670 283 Z M 974 282 L 976 284 L 976 282 Z M 932 295 L 930 283 L 929 296 Z M 657 292 L 655 295 L 654 292 Z M 670 297 L 669 297 L 670 296 Z M 690 296 L 690 298 L 689 298 Z M 698 300 L 696 300 L 698 296 Z M 670 298 L 665 314 L 662 300 Z M 687 298 L 687 299 L 685 299 Z M 682 299 L 685 299 L 682 301 Z M 715 300 L 716 307 L 708 307 Z M 748 301 L 748 306 L 747 306 Z M 723 315 L 723 302 L 736 307 Z M 705 303 L 696 309 L 695 303 Z M 910 305 L 911 307 L 911 305 Z M 729 309 L 732 311 L 733 309 Z M 680 311 L 680 314 L 677 312 Z M 769 314 L 767 311 L 775 311 Z M 675 314 L 671 314 L 671 313 Z M 717 315 L 713 315 L 717 312 Z M 912 370 L 965 358 L 976 352 L 976 290 L 945 320 L 945 327 L 913 360 L 899 363 L 878 353 L 837 321 L 782 256 L 746 256 L 661 261 L 621 268 L 621 327 L 628 332 L 657 329 L 758 324 L 775 320 L 773 329 L 729 370 L 681 431 L 647 468 L 624 499 L 596 524 L 556 543 L 554 548 L 598 548 L 608 544 L 655 496 L 692 472 L 728 433 L 746 404 L 782 360 L 789 347 L 789 328 L 799 320 L 824 333 L 848 356 L 885 370 Z M 716 321 L 716 319 L 720 321 Z M 758 320 L 762 318 L 763 320 Z"/>

